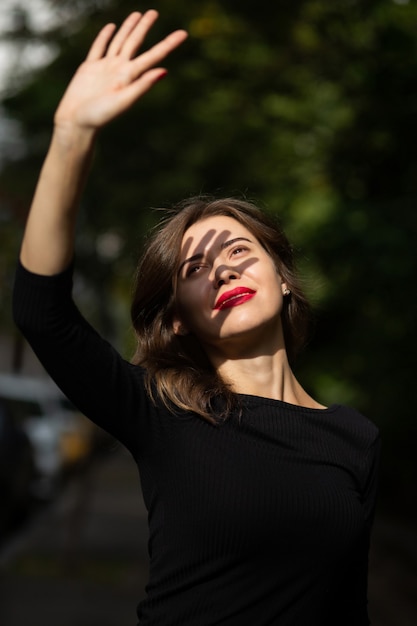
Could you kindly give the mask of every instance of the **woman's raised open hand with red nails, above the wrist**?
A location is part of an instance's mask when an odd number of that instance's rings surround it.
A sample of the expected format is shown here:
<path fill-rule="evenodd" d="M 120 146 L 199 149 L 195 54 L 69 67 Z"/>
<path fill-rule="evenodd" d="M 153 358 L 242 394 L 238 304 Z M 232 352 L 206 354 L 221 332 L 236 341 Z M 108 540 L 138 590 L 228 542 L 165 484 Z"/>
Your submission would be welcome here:
<path fill-rule="evenodd" d="M 93 42 L 55 114 L 55 124 L 98 129 L 126 111 L 166 74 L 157 66 L 187 37 L 177 30 L 136 56 L 158 18 L 154 10 L 131 13 L 116 30 L 107 24 Z"/>

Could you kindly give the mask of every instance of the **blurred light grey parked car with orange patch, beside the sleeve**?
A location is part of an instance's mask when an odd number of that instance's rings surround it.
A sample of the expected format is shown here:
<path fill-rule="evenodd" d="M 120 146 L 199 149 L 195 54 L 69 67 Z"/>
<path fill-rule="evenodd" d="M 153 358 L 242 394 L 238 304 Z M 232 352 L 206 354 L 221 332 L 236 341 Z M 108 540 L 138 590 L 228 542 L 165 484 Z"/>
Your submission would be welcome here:
<path fill-rule="evenodd" d="M 91 452 L 93 426 L 49 378 L 0 374 L 0 400 L 32 444 L 34 495 L 53 497 L 65 470 Z"/>

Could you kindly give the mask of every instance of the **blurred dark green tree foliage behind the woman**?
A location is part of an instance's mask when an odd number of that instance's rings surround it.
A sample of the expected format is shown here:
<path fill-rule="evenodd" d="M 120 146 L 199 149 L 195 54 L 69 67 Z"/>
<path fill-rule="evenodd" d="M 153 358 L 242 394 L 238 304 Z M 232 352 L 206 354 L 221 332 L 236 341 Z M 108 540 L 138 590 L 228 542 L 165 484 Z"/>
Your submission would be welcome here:
<path fill-rule="evenodd" d="M 4 102 L 27 145 L 0 174 L 20 207 L 0 234 L 7 266 L 17 245 L 9 231 L 21 228 L 61 93 L 99 27 L 138 8 L 130 0 L 62 6 L 73 21 L 47 34 L 56 60 Z M 254 199 L 284 223 L 317 310 L 302 382 L 380 426 L 382 498 L 416 512 L 408 494 L 417 479 L 417 5 L 154 6 L 161 18 L 149 43 L 178 27 L 190 38 L 167 61 L 169 76 L 102 133 L 77 251 L 96 294 L 93 319 L 130 349 L 130 280 L 158 217 L 150 207 L 199 192 Z"/>

